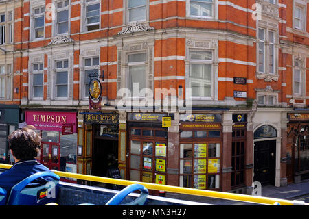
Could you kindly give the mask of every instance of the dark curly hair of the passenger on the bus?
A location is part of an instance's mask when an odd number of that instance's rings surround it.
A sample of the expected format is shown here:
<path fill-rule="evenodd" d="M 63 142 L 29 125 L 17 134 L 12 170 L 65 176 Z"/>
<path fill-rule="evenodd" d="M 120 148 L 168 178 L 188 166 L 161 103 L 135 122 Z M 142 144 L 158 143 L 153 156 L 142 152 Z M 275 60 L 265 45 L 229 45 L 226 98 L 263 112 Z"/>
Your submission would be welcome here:
<path fill-rule="evenodd" d="M 12 154 L 16 159 L 29 160 L 38 156 L 41 147 L 41 137 L 33 131 L 34 126 L 18 129 L 8 136 Z"/>

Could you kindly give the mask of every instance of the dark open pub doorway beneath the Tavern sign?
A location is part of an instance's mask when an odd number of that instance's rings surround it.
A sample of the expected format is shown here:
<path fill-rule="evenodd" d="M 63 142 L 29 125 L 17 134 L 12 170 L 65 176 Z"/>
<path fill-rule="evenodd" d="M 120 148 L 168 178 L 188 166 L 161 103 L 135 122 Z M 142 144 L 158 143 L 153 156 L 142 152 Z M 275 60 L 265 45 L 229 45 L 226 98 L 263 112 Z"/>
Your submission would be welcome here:
<path fill-rule="evenodd" d="M 118 126 L 93 124 L 93 133 L 92 175 L 115 178 L 111 172 L 118 171 Z"/>

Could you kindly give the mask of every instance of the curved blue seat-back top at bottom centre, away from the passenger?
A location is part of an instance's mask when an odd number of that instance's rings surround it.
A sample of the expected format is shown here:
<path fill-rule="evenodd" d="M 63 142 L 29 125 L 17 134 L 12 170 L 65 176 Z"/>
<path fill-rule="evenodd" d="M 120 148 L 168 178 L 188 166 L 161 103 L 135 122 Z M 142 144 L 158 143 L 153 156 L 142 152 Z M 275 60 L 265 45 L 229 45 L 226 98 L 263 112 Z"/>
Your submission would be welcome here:
<path fill-rule="evenodd" d="M 131 192 L 135 192 L 137 190 L 141 191 L 141 194 L 135 201 L 131 201 L 130 203 L 125 203 L 124 205 L 144 205 L 148 197 L 148 189 L 144 187 L 144 185 L 140 184 L 132 184 L 128 185 L 126 188 L 121 190 L 118 194 L 113 196 L 105 205 L 119 205 L 128 194 Z"/>

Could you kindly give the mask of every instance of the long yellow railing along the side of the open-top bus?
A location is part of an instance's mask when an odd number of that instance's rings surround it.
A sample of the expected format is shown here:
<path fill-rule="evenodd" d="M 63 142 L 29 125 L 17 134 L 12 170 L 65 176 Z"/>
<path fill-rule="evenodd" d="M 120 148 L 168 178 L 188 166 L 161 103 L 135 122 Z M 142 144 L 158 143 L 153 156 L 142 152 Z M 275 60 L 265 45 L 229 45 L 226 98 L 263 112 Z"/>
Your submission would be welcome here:
<path fill-rule="evenodd" d="M 0 164 L 0 168 L 8 169 L 12 165 L 9 164 Z M 264 205 L 309 205 L 309 203 L 304 203 L 302 201 L 290 201 L 286 199 L 280 199 L 280 198 L 268 198 L 268 197 L 262 197 L 262 196 L 251 196 L 247 194 L 235 194 L 235 193 L 229 193 L 229 192 L 217 192 L 217 191 L 211 191 L 211 190 L 198 190 L 194 188 L 183 188 L 173 185 L 159 185 L 155 183 L 144 183 L 139 181 L 130 181 L 125 179 L 113 179 L 108 177 L 97 177 L 92 175 L 82 175 L 77 173 L 71 173 L 71 172 L 62 172 L 62 171 L 53 171 L 56 175 L 60 177 L 68 177 L 68 178 L 74 178 L 74 179 L 80 179 L 85 181 L 95 181 L 98 183 L 110 183 L 115 185 L 131 185 L 134 183 L 139 183 L 141 185 L 144 185 L 148 190 L 159 190 L 159 191 L 165 191 L 165 192 L 173 192 L 173 193 L 179 193 L 179 194 L 190 194 L 195 196 L 205 196 L 208 198 L 220 198 L 225 200 L 231 200 L 231 201 L 242 201 L 247 203 L 259 203 Z"/>

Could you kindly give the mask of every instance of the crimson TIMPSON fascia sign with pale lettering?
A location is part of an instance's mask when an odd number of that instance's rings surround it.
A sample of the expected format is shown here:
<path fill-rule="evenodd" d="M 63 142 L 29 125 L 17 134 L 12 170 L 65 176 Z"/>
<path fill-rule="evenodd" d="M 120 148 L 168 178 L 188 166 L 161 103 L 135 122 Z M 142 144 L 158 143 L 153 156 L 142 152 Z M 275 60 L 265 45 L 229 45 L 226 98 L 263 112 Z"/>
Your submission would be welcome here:
<path fill-rule="evenodd" d="M 45 131 L 62 132 L 63 127 L 70 126 L 76 133 L 76 112 L 26 111 L 25 122 Z"/>

